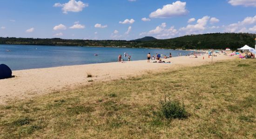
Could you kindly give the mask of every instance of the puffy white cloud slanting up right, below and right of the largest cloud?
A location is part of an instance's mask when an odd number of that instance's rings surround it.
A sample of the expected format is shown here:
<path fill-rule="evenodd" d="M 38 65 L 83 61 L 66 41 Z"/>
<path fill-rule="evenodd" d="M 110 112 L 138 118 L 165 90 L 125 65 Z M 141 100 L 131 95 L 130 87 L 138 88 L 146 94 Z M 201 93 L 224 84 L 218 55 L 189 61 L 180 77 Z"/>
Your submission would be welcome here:
<path fill-rule="evenodd" d="M 198 19 L 195 25 L 187 25 L 186 27 L 182 27 L 180 31 L 185 31 L 187 34 L 191 32 L 198 32 L 205 30 L 206 25 L 209 21 L 210 17 L 209 16 L 204 16 L 202 19 Z"/>

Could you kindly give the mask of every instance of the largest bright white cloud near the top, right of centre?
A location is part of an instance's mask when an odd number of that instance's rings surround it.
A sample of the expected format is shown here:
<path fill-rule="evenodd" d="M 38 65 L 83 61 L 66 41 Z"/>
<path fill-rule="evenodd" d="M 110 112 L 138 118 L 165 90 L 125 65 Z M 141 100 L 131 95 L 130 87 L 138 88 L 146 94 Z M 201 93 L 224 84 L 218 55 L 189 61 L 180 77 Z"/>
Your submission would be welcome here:
<path fill-rule="evenodd" d="M 150 18 L 171 18 L 175 16 L 186 15 L 189 11 L 186 9 L 186 2 L 176 1 L 172 4 L 164 5 L 162 9 L 157 9 L 150 13 Z"/>

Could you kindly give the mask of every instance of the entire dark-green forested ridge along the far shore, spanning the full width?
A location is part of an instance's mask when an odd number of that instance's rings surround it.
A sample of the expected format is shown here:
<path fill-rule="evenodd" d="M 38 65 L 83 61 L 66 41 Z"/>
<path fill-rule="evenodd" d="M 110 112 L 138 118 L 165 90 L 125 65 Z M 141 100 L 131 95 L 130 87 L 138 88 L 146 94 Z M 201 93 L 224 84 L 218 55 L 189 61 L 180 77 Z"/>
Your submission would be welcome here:
<path fill-rule="evenodd" d="M 150 47 L 169 49 L 225 49 L 233 50 L 244 46 L 255 45 L 256 34 L 249 33 L 211 33 L 188 35 L 171 39 L 157 39 L 150 41 L 125 40 L 82 40 L 61 38 L 0 38 L 0 44 L 27 44 L 27 45 L 62 45 L 62 46 L 126 46 Z"/>

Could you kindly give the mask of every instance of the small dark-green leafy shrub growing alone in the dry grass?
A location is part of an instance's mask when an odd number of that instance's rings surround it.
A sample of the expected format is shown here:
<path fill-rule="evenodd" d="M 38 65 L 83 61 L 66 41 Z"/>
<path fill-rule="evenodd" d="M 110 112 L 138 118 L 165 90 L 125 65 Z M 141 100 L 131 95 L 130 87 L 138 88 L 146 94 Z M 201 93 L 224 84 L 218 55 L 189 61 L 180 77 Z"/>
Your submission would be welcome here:
<path fill-rule="evenodd" d="M 179 101 L 171 100 L 170 96 L 166 96 L 164 101 L 160 102 L 162 115 L 167 119 L 186 119 L 188 113 L 185 110 L 184 104 Z"/>

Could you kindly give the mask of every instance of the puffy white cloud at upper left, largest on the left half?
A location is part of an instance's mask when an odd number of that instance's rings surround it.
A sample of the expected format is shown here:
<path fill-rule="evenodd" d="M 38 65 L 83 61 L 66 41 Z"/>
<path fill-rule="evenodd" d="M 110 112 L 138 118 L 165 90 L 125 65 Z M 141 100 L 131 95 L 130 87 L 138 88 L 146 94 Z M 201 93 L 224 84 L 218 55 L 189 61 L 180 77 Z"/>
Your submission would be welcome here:
<path fill-rule="evenodd" d="M 67 3 L 55 3 L 54 7 L 62 7 L 63 13 L 67 12 L 81 12 L 84 7 L 88 7 L 88 3 L 83 3 L 82 1 L 69 0 Z"/>

